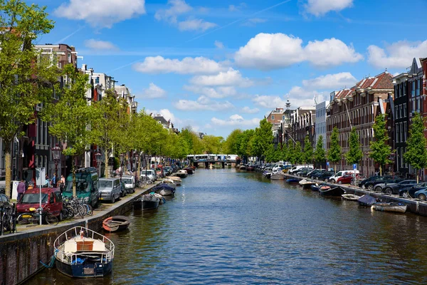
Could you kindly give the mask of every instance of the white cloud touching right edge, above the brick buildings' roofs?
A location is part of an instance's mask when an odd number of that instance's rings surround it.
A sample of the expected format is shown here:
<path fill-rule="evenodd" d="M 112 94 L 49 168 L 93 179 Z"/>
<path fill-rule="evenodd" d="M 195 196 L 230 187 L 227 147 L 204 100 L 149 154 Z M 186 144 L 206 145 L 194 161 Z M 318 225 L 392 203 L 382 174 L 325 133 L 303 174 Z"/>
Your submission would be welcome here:
<path fill-rule="evenodd" d="M 411 66 L 413 58 L 425 57 L 427 54 L 427 40 L 418 42 L 397 41 L 386 46 L 368 47 L 368 62 L 376 68 L 406 68 Z"/>

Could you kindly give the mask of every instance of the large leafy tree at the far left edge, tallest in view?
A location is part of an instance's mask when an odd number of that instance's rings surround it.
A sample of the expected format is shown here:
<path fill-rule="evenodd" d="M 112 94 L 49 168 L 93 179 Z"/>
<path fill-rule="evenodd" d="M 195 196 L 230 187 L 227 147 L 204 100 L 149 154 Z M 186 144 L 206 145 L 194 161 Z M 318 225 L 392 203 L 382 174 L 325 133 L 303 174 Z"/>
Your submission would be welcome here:
<path fill-rule="evenodd" d="M 11 142 L 24 134 L 23 126 L 36 120 L 35 106 L 51 100 L 58 68 L 51 61 L 42 61 L 33 47 L 38 36 L 53 28 L 46 7 L 28 6 L 21 0 L 0 0 L 0 10 L 0 138 L 9 196 Z"/>

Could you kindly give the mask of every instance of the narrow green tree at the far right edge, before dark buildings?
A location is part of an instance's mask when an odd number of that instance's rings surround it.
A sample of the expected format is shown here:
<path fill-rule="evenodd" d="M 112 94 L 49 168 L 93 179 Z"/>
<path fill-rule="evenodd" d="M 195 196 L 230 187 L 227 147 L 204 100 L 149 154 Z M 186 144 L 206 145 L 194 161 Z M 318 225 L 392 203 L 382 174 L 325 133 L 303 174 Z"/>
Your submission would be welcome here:
<path fill-rule="evenodd" d="M 406 141 L 406 152 L 404 159 L 413 169 L 416 170 L 416 182 L 418 183 L 418 170 L 427 167 L 427 141 L 424 136 L 425 118 L 422 118 L 420 113 L 415 113 L 412 118 L 411 129 L 409 130 L 409 138 Z"/>

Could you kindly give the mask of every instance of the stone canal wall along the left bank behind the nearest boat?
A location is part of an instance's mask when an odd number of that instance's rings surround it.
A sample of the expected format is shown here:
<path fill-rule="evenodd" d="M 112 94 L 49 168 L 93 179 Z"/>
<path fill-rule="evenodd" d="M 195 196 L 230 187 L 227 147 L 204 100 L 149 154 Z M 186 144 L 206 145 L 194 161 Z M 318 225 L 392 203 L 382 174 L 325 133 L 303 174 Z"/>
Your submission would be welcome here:
<path fill-rule="evenodd" d="M 154 186 L 154 185 L 153 185 Z M 149 188 L 151 189 L 151 187 Z M 95 231 L 102 228 L 102 221 L 111 216 L 125 214 L 133 207 L 135 199 L 149 192 L 137 190 L 137 195 L 122 198 L 102 211 L 96 211 L 92 217 L 61 222 L 57 226 L 36 226 L 16 234 L 0 237 L 0 284 L 21 284 L 48 264 L 53 256 L 53 243 L 58 235 L 77 226 L 88 227 Z M 22 231 L 22 229 L 21 229 Z"/>

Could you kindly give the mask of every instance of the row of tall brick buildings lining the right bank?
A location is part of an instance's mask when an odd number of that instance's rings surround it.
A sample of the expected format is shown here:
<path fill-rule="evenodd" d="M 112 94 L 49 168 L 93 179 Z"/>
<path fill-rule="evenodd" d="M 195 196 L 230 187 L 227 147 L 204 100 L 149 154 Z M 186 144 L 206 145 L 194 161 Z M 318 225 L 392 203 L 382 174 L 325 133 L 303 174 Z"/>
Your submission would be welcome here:
<path fill-rule="evenodd" d="M 389 145 L 395 150 L 395 155 L 391 156 L 394 163 L 388 165 L 389 171 L 412 174 L 413 169 L 404 161 L 403 154 L 413 114 L 421 113 L 427 117 L 426 77 L 427 58 L 413 58 L 404 73 L 393 76 L 384 71 L 377 76 L 368 76 L 352 88 L 333 91 L 330 100 L 322 103 L 292 110 L 288 101 L 285 110 L 276 108 L 267 118 L 273 123 L 275 143 L 283 145 L 287 140 L 295 140 L 304 147 L 305 136 L 309 135 L 315 146 L 317 138 L 322 135 L 328 150 L 332 129 L 337 127 L 343 153 L 339 168 L 352 169 L 344 159 L 344 153 L 349 150 L 349 135 L 355 128 L 363 152 L 359 171 L 372 175 L 379 167 L 369 158 L 370 142 L 374 138 L 372 127 L 376 115 L 386 114 Z"/>

